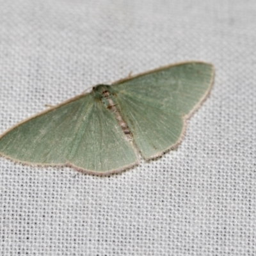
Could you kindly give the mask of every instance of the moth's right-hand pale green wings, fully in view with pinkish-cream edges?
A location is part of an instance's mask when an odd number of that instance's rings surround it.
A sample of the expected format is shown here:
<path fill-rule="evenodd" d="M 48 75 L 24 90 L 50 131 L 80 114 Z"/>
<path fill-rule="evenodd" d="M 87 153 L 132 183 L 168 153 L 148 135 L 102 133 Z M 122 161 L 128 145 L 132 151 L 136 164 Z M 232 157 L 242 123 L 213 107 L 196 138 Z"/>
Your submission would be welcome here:
<path fill-rule="evenodd" d="M 208 95 L 213 76 L 211 64 L 188 62 L 115 83 L 118 110 L 145 159 L 179 143 L 186 119 Z"/>

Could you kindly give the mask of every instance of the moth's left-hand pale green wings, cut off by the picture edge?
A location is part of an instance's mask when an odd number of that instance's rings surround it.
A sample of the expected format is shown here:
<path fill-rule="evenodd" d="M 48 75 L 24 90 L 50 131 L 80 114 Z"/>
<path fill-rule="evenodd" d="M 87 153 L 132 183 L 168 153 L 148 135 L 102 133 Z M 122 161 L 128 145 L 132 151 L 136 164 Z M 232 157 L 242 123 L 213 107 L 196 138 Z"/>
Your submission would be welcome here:
<path fill-rule="evenodd" d="M 118 172 L 138 162 L 115 115 L 91 94 L 16 125 L 1 136 L 0 154 L 22 163 L 67 164 L 95 174 Z"/>

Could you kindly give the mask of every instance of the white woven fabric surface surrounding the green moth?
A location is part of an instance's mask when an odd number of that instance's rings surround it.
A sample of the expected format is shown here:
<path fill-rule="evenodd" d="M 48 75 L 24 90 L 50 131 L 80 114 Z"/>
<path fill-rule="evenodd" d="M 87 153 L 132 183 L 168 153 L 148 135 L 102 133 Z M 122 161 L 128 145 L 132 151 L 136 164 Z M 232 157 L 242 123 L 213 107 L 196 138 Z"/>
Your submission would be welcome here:
<path fill-rule="evenodd" d="M 0 0 L 0 133 L 98 83 L 202 60 L 179 148 L 120 175 L 0 157 L 0 255 L 256 255 L 256 2 Z"/>

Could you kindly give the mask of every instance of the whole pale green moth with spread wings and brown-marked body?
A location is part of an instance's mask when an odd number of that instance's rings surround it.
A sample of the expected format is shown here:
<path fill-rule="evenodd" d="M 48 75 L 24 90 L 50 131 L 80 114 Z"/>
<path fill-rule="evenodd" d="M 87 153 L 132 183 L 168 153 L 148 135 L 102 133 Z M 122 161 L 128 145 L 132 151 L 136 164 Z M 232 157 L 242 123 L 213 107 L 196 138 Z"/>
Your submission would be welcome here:
<path fill-rule="evenodd" d="M 67 100 L 0 136 L 20 163 L 106 175 L 177 147 L 186 120 L 211 90 L 214 67 L 191 61 L 128 77 Z"/>

